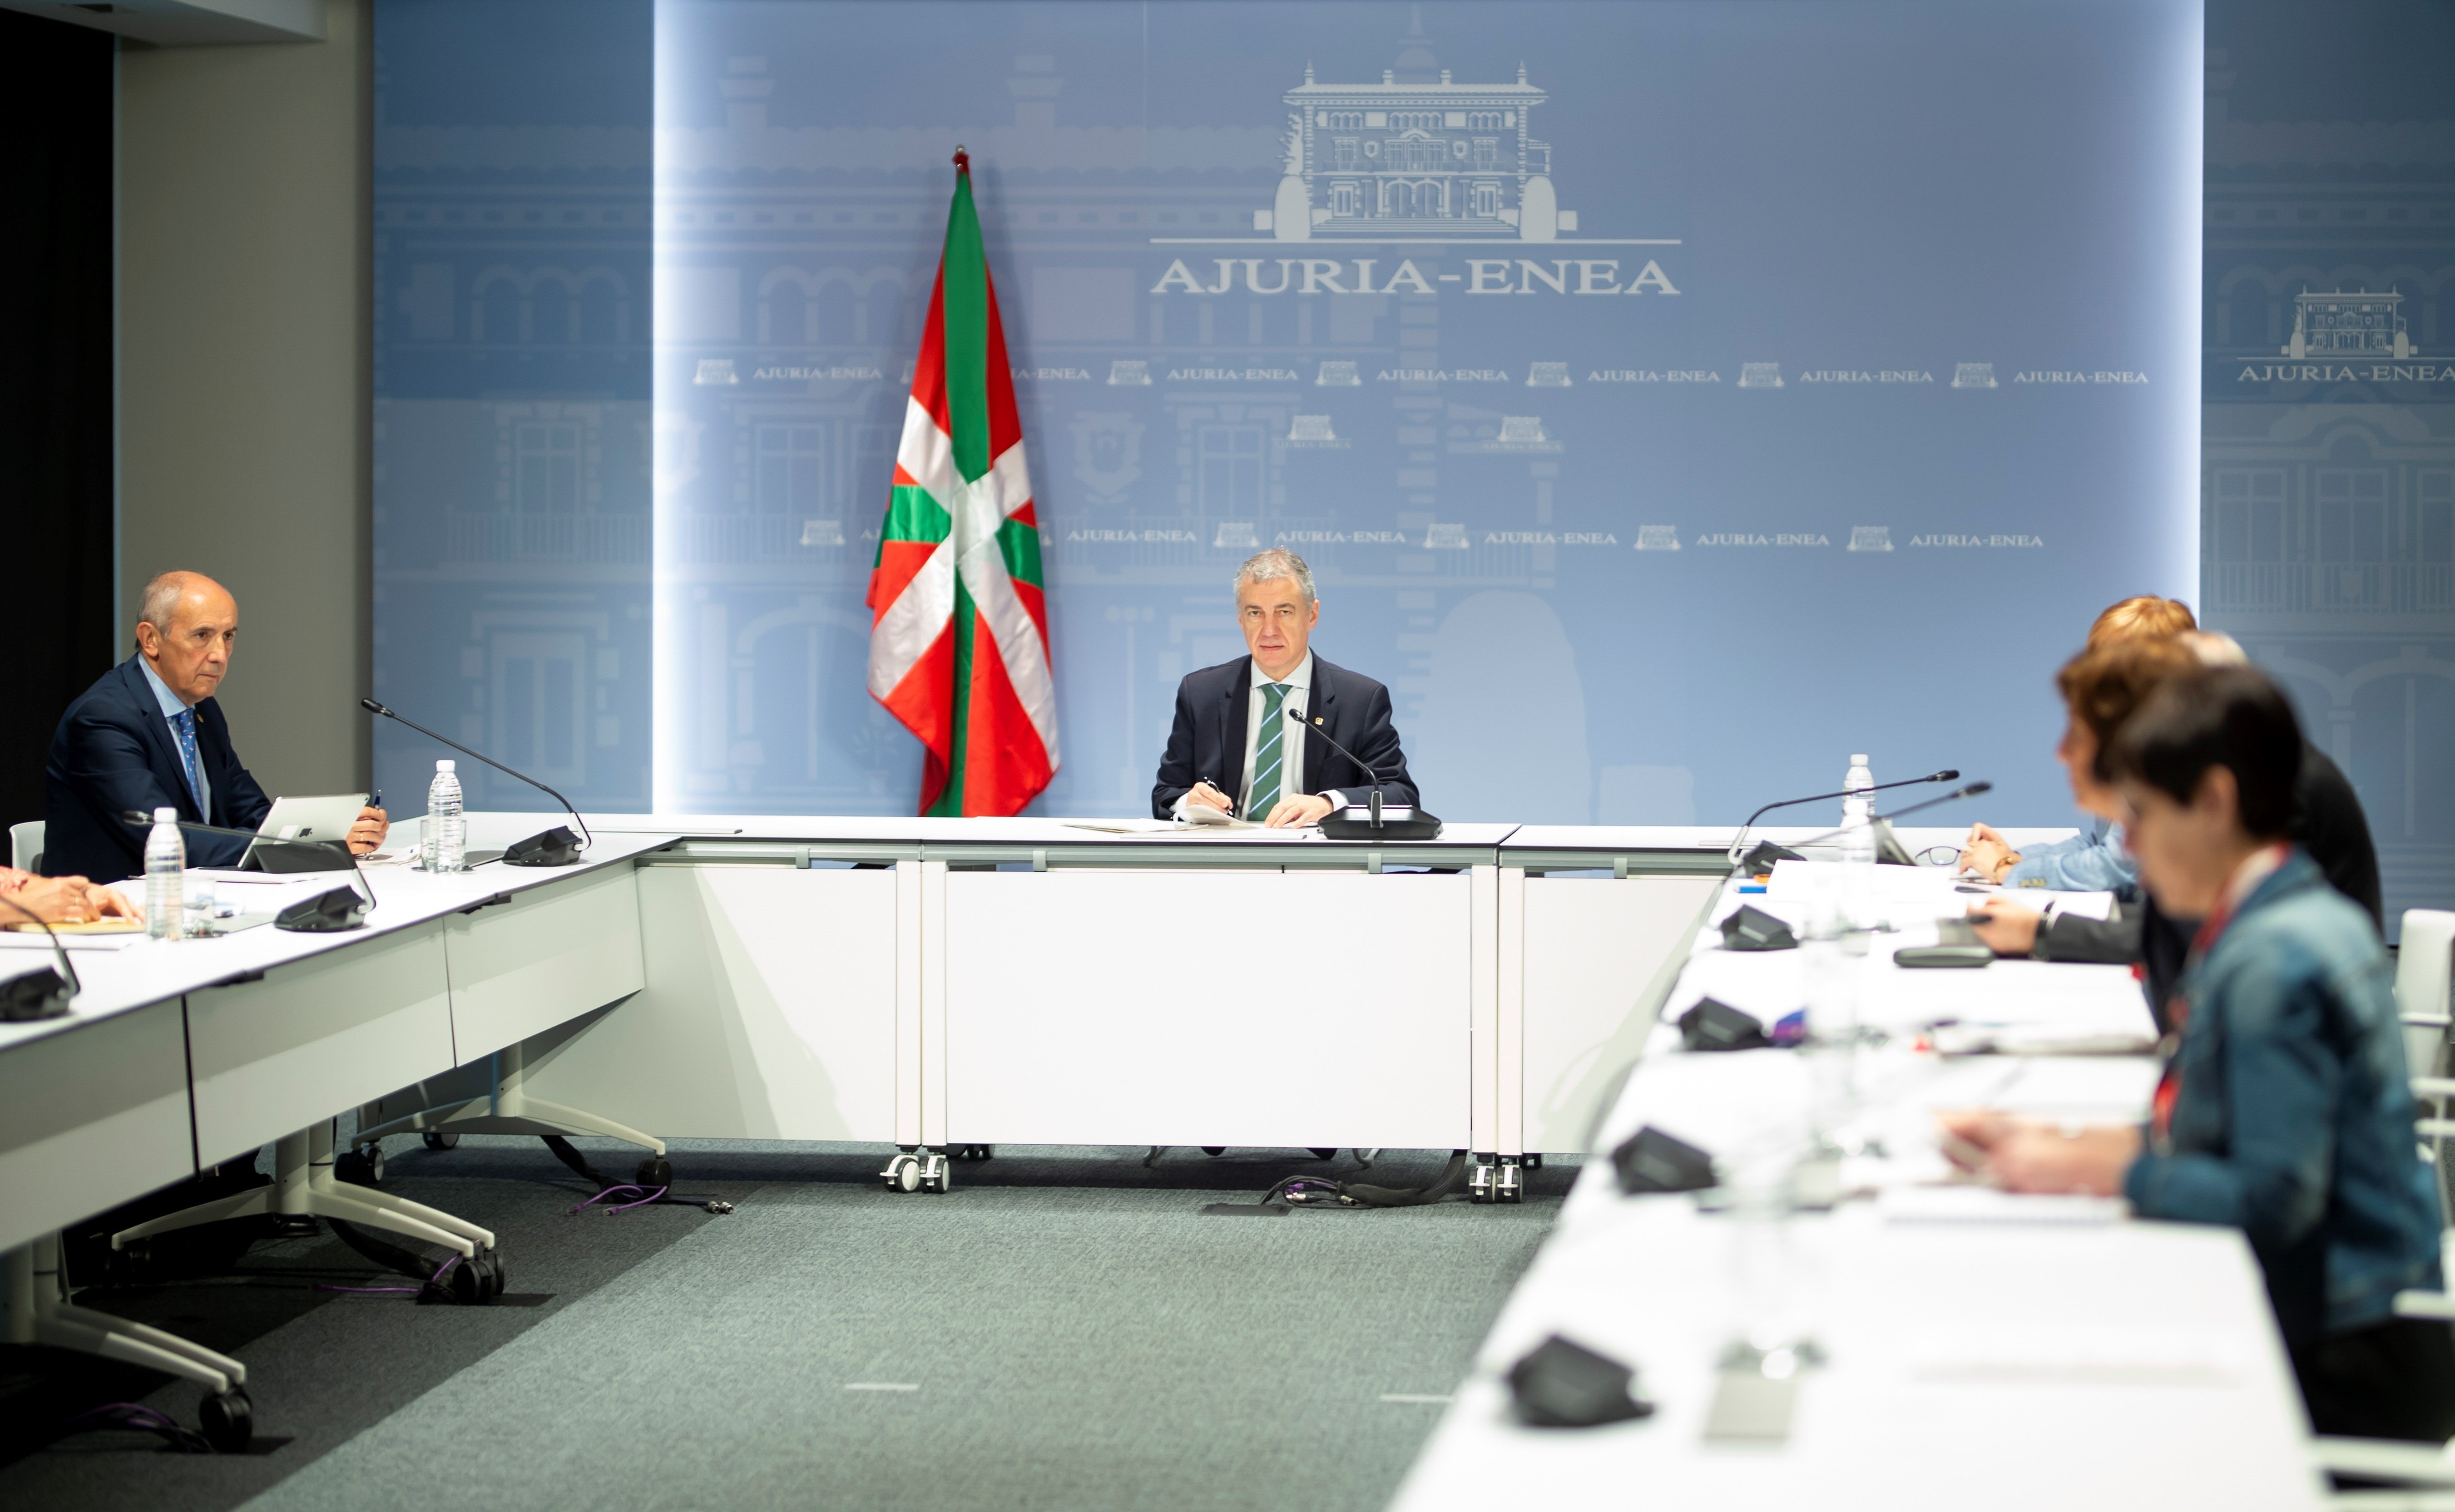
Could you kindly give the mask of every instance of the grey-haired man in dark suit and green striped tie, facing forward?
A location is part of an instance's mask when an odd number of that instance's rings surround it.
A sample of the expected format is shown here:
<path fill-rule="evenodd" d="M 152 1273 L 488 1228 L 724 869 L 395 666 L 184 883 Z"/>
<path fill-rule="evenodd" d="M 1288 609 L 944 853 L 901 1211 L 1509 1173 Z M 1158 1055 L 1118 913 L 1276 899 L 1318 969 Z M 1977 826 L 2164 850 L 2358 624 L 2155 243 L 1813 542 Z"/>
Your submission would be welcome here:
<path fill-rule="evenodd" d="M 1417 803 L 1390 724 L 1390 690 L 1311 650 L 1321 601 L 1304 557 L 1274 547 L 1237 567 L 1235 609 L 1252 655 L 1178 682 L 1151 815 L 1183 817 L 1203 805 L 1274 830 L 1313 825 L 1350 800 L 1363 803 L 1375 776 L 1382 803 Z"/>

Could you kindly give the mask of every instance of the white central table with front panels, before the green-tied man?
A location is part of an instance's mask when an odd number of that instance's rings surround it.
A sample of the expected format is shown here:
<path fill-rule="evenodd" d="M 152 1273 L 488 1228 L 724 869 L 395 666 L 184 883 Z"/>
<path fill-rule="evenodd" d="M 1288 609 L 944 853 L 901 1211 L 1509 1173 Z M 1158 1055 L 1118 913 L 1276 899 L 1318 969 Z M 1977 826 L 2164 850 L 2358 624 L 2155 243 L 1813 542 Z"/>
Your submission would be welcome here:
<path fill-rule="evenodd" d="M 641 857 L 646 989 L 530 1048 L 540 1097 L 660 1136 L 1471 1149 L 1502 1200 L 1583 1149 L 1731 837 L 653 822 L 692 832 Z"/>

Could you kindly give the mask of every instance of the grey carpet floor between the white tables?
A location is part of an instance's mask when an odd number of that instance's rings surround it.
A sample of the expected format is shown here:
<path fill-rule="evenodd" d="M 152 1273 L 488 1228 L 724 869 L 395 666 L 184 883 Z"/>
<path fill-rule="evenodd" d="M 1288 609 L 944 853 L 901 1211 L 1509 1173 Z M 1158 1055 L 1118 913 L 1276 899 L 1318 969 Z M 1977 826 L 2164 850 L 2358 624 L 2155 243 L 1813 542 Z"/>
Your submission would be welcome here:
<path fill-rule="evenodd" d="M 243 1357 L 270 1448 L 47 1441 L 96 1402 L 194 1421 L 196 1389 L 0 1350 L 0 1505 L 1372 1510 L 1574 1176 L 1532 1173 L 1517 1208 L 1250 1220 L 1200 1205 L 1353 1156 L 1026 1146 L 957 1166 L 950 1195 L 889 1195 L 869 1149 L 678 1144 L 680 1188 L 732 1215 L 567 1217 L 587 1193 L 535 1141 L 393 1149 L 390 1190 L 501 1235 L 516 1306 L 312 1291 L 371 1279 L 329 1235 L 88 1294 Z M 1375 1178 L 1429 1181 L 1444 1154 Z"/>

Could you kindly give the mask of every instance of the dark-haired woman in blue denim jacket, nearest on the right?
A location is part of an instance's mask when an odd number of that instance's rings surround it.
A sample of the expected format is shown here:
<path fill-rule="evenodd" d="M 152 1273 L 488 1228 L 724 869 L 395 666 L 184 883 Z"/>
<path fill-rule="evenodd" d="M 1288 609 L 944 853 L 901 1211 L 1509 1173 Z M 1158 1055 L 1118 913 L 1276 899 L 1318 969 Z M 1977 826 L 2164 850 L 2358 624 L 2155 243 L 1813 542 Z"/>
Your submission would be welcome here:
<path fill-rule="evenodd" d="M 2293 707 L 2251 668 L 2165 682 L 2124 722 L 2111 766 L 2141 881 L 2207 920 L 2148 1124 L 1954 1124 L 2011 1190 L 2239 1227 L 2318 1431 L 2445 1441 L 2455 1338 L 2394 1313 L 2399 1291 L 2443 1286 L 2394 972 L 2369 916 L 2286 839 L 2300 751 Z"/>

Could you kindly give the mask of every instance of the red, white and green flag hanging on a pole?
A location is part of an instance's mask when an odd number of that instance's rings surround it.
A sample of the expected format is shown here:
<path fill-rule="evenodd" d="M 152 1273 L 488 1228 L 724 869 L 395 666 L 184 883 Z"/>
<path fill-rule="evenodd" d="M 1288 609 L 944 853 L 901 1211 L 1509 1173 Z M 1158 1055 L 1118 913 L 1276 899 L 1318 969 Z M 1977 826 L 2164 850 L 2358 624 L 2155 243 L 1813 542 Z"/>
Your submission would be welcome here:
<path fill-rule="evenodd" d="M 921 812 L 1019 812 L 1058 768 L 1058 700 L 1024 425 L 962 152 L 869 611 L 869 695 L 928 749 Z"/>

